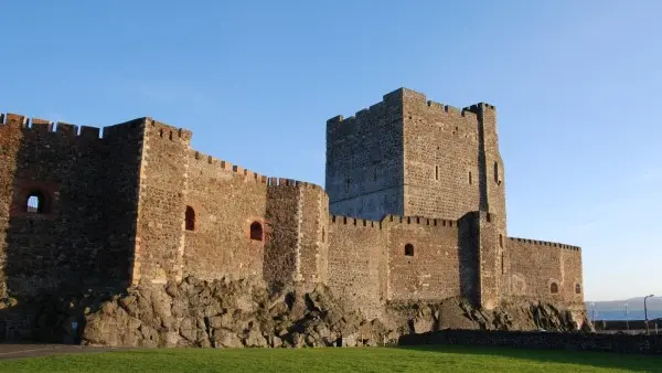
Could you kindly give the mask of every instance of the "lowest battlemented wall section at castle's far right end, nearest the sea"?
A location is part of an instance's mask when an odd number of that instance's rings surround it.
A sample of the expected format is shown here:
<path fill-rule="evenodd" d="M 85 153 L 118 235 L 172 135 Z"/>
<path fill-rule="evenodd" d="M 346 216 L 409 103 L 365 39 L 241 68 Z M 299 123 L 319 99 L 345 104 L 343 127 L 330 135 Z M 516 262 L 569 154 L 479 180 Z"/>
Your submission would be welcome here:
<path fill-rule="evenodd" d="M 581 302 L 581 252 L 579 247 L 543 241 L 509 237 L 511 291 L 558 302 Z M 552 294 L 552 284 L 558 292 Z M 575 294 L 579 285 L 580 295 Z"/>

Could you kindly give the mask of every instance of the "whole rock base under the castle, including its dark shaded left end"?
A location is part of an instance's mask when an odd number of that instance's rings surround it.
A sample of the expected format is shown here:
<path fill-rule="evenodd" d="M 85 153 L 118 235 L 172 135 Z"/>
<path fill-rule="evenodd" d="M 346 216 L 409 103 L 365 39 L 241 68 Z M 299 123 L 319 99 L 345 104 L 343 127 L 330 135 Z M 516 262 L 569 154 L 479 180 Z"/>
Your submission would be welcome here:
<path fill-rule="evenodd" d="M 62 290 L 31 301 L 0 301 L 6 335 L 111 347 L 329 347 L 396 343 L 401 335 L 436 330 L 592 331 L 583 310 L 534 300 L 504 301 L 494 310 L 462 298 L 388 302 L 365 319 L 324 285 L 269 290 L 258 279 Z"/>

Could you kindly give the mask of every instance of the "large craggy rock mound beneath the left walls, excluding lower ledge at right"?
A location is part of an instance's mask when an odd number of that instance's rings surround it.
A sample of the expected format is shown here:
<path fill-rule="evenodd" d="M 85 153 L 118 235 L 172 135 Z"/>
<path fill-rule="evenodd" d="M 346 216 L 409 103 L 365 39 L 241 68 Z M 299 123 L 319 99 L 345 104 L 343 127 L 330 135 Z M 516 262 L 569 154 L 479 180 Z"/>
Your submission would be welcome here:
<path fill-rule="evenodd" d="M 324 285 L 270 292 L 259 280 L 140 286 L 86 316 L 83 342 L 122 347 L 377 345 L 397 334 L 346 309 Z"/>

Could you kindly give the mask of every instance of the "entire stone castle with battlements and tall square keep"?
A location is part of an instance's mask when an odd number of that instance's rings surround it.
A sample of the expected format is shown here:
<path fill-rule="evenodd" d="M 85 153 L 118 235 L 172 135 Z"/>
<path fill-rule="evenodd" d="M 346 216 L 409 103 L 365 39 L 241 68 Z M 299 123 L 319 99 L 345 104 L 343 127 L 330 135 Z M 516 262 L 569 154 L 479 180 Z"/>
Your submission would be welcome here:
<path fill-rule="evenodd" d="M 191 137 L 151 118 L 100 136 L 0 116 L 2 292 L 257 276 L 328 284 L 369 317 L 458 296 L 584 308 L 578 247 L 508 236 L 491 105 L 401 88 L 329 119 L 325 190 L 200 153 Z"/>

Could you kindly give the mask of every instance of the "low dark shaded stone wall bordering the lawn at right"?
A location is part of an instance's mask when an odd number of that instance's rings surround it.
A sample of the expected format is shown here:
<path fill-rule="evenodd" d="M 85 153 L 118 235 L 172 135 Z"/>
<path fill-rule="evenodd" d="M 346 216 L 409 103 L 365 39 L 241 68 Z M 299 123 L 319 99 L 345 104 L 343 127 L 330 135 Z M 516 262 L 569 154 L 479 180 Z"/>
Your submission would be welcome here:
<path fill-rule="evenodd" d="M 440 330 L 402 335 L 399 345 L 466 344 L 515 349 L 662 354 L 662 335 Z"/>

